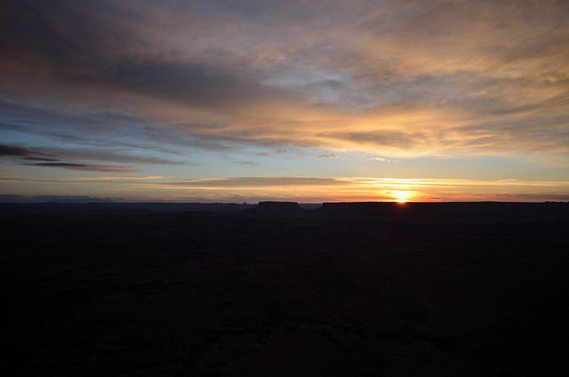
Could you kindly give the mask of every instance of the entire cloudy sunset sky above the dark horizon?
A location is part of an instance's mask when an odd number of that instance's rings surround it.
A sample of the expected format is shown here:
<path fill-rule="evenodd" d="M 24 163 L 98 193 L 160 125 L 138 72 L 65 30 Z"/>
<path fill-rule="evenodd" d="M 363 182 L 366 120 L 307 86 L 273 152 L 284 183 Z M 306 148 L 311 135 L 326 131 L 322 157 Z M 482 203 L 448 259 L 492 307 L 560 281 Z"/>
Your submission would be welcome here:
<path fill-rule="evenodd" d="M 7 0 L 0 201 L 567 201 L 567 20 L 565 0 Z"/>

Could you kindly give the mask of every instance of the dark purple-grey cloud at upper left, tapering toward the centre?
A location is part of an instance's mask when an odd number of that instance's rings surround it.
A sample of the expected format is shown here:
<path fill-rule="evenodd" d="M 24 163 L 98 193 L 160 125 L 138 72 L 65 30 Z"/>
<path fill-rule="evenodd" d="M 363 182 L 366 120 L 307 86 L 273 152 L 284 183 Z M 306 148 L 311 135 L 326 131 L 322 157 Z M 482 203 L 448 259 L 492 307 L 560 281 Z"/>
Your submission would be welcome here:
<path fill-rule="evenodd" d="M 105 1 L 11 3 L 2 21 L 0 70 L 19 84 L 43 79 L 200 106 L 270 95 L 236 69 L 172 60 L 143 36 L 137 13 Z"/>

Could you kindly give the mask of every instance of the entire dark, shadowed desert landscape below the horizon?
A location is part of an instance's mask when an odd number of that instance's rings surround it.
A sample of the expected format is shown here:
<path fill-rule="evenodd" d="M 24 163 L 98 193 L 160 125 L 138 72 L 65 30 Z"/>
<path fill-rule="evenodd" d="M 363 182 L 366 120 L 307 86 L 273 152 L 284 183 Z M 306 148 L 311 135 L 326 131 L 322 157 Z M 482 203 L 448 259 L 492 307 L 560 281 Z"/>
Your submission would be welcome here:
<path fill-rule="evenodd" d="M 569 372 L 569 203 L 315 207 L 0 204 L 4 375 Z"/>

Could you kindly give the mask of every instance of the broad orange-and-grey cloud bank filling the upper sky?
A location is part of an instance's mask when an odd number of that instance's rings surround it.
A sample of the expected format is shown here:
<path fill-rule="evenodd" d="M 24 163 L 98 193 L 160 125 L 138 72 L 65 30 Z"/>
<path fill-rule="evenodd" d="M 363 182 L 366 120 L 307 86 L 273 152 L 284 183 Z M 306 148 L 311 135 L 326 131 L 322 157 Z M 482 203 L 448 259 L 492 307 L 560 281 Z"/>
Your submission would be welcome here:
<path fill-rule="evenodd" d="M 21 108 L 0 126 L 156 152 L 90 152 L 127 164 L 268 146 L 566 163 L 568 17 L 562 1 L 10 2 L 0 91 Z"/>

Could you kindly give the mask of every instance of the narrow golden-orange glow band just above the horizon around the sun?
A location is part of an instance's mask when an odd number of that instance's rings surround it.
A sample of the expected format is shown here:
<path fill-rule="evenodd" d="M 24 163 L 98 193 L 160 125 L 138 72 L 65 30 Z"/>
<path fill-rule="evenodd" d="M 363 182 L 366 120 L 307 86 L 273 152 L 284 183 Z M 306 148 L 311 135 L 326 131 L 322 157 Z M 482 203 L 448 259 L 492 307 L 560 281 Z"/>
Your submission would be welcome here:
<path fill-rule="evenodd" d="M 26 180 L 4 177 L 4 187 L 34 188 L 53 195 L 116 197 L 126 201 L 257 203 L 260 201 L 325 202 L 545 202 L 566 200 L 568 181 L 396 179 L 373 177 L 235 177 L 176 180 L 174 177 L 71 177 Z M 86 190 L 88 188 L 88 191 Z M 541 193 L 541 195 L 540 195 Z M 103 195 L 101 195 L 103 194 Z"/>

